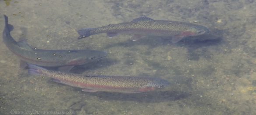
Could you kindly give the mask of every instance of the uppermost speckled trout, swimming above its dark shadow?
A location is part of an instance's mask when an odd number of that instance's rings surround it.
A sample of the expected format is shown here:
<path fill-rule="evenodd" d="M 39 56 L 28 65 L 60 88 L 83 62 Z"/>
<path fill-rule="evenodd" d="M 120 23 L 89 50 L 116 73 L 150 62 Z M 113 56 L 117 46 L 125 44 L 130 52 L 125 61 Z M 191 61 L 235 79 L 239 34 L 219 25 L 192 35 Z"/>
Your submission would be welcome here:
<path fill-rule="evenodd" d="M 172 43 L 181 41 L 183 37 L 197 36 L 209 33 L 206 27 L 178 21 L 153 20 L 149 17 L 140 17 L 121 24 L 110 24 L 103 27 L 83 28 L 78 30 L 78 39 L 94 34 L 107 33 L 108 37 L 117 34 L 134 34 L 133 41 L 137 41 L 145 36 L 172 37 Z"/>

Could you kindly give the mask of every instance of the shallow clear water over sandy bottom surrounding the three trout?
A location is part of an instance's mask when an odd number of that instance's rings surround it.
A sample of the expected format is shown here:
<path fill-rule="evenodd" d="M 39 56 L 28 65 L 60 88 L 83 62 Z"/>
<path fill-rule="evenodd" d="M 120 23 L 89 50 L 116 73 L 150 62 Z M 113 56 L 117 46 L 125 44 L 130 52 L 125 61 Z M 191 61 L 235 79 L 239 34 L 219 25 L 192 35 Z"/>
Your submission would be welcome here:
<path fill-rule="evenodd" d="M 7 1 L 10 1 L 8 3 Z M 79 66 L 83 74 L 162 78 L 164 91 L 88 93 L 28 75 L 0 42 L 0 114 L 64 115 L 255 115 L 255 0 L 0 0 L 14 25 L 14 39 L 41 49 L 107 51 L 107 58 Z M 147 16 L 208 27 L 211 34 L 131 41 L 106 34 L 78 40 L 76 30 Z"/>

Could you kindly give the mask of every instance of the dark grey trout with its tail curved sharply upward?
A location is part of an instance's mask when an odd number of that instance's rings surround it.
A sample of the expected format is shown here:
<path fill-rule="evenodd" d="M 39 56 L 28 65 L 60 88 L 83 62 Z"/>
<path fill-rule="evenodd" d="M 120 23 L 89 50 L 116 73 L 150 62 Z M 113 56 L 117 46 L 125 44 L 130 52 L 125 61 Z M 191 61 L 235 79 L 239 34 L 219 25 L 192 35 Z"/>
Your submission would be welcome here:
<path fill-rule="evenodd" d="M 8 17 L 4 15 L 5 27 L 3 39 L 10 51 L 16 54 L 21 61 L 46 67 L 72 68 L 74 65 L 82 65 L 93 60 L 107 56 L 104 51 L 94 50 L 42 50 L 30 47 L 26 41 L 16 42 L 11 36 L 14 27 L 8 24 Z"/>

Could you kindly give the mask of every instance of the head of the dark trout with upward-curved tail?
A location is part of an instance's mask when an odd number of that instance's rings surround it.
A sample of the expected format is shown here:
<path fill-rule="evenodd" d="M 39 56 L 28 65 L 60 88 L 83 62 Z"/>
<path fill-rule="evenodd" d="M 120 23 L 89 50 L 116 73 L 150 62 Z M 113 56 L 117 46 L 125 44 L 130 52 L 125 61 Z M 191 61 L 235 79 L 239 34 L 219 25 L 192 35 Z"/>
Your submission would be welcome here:
<path fill-rule="evenodd" d="M 67 62 L 67 65 L 82 65 L 107 56 L 105 51 L 86 50 L 81 51 L 77 58 Z"/>

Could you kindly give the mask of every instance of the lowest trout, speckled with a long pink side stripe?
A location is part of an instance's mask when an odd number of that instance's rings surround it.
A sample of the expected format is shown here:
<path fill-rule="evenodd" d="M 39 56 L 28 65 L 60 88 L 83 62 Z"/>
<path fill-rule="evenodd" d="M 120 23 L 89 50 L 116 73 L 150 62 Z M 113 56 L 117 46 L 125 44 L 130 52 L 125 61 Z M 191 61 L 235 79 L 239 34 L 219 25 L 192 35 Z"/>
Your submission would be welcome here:
<path fill-rule="evenodd" d="M 33 64 L 28 64 L 29 74 L 45 75 L 61 84 L 82 88 L 82 91 L 140 93 L 154 91 L 167 87 L 170 83 L 160 78 L 131 77 L 131 76 L 103 76 L 63 73 L 46 70 Z"/>

